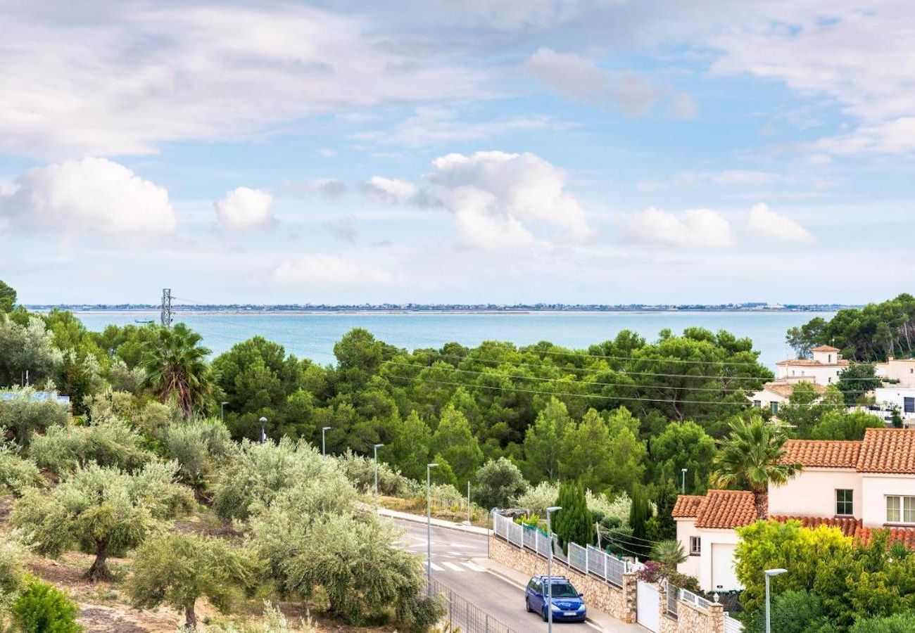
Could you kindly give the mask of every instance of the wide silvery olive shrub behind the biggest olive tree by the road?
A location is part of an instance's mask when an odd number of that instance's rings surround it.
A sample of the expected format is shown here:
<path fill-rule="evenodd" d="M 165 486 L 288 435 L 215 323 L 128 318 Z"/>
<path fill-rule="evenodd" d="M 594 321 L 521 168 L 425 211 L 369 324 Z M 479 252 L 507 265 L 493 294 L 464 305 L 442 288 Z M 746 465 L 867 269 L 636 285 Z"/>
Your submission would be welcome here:
<path fill-rule="evenodd" d="M 231 459 L 220 469 L 214 493 L 216 513 L 225 521 L 245 520 L 290 488 L 318 496 L 327 492 L 342 507 L 356 496 L 337 462 L 323 459 L 307 442 L 284 437 L 279 443 L 259 445 L 245 439 L 232 447 Z"/>

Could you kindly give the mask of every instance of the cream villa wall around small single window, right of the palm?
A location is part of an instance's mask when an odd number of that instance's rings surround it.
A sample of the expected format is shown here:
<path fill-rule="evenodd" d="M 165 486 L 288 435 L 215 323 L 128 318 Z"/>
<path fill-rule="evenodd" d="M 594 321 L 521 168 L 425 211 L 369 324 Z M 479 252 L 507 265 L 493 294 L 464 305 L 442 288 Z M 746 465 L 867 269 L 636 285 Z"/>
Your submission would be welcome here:
<path fill-rule="evenodd" d="M 784 486 L 770 486 L 770 516 L 833 517 L 835 490 L 852 489 L 855 518 L 862 518 L 861 473 L 854 468 L 804 468 Z M 913 493 L 915 494 L 915 493 Z"/>

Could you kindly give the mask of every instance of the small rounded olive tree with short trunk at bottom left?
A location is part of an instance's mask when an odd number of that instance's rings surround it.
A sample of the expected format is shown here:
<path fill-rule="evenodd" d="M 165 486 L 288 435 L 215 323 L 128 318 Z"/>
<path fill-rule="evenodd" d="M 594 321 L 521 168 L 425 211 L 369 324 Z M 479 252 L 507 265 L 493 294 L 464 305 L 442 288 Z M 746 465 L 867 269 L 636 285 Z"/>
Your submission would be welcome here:
<path fill-rule="evenodd" d="M 201 596 L 227 613 L 254 571 L 247 551 L 223 539 L 167 533 L 146 539 L 136 551 L 126 589 L 135 608 L 166 604 L 182 609 L 185 627 L 195 629 Z"/>

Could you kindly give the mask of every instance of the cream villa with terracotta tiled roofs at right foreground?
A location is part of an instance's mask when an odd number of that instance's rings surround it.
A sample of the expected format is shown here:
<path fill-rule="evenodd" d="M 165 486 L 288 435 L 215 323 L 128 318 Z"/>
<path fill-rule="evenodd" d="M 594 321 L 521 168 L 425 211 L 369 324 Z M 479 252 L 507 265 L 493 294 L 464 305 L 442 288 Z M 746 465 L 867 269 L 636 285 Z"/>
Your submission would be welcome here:
<path fill-rule="evenodd" d="M 770 520 L 830 525 L 859 542 L 886 529 L 891 542 L 915 549 L 915 429 L 871 428 L 863 440 L 851 442 L 789 440 L 783 462 L 802 470 L 784 486 L 770 486 Z M 677 571 L 694 575 L 705 591 L 741 588 L 734 572 L 735 530 L 757 520 L 753 493 L 681 495 L 673 519 L 689 554 Z"/>

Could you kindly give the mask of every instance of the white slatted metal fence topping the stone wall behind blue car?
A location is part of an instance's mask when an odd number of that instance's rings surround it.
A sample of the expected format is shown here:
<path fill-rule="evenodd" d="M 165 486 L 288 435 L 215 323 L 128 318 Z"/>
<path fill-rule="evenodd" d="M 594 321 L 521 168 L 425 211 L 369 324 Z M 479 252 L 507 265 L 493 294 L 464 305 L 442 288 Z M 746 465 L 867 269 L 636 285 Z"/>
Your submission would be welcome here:
<path fill-rule="evenodd" d="M 539 529 L 533 526 L 522 526 L 498 512 L 492 513 L 492 531 L 496 536 L 519 547 L 526 547 L 544 558 L 549 556 L 552 542 L 553 556 L 556 560 L 568 564 L 582 574 L 596 575 L 609 584 L 620 588 L 623 585 L 623 574 L 637 571 L 640 568 L 636 563 L 621 561 L 611 554 L 598 550 L 593 545 L 581 547 L 576 543 L 570 542 L 568 544 L 568 554 L 566 555 L 563 553 L 562 548 L 559 547 L 555 534 L 552 535 L 553 538 L 551 539 Z"/>

